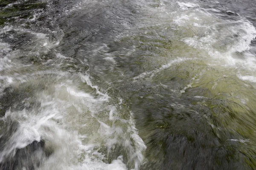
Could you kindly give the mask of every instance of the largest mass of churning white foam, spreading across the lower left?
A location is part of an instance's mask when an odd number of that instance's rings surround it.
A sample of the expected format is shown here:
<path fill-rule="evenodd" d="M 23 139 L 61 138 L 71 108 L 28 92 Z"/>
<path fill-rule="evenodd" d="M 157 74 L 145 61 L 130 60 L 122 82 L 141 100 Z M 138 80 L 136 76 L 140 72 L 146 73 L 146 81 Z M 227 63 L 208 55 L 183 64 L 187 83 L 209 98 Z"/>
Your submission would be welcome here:
<path fill-rule="evenodd" d="M 0 161 L 6 155 L 15 154 L 17 148 L 44 139 L 45 147 L 52 148 L 54 153 L 49 159 L 42 160 L 39 170 L 128 170 L 122 155 L 110 164 L 103 161 L 108 153 L 100 152 L 99 148 L 106 147 L 112 152 L 115 144 L 125 147 L 127 152 L 124 154 L 130 158 L 126 163 L 133 164 L 138 170 L 143 163 L 145 144 L 138 136 L 132 113 L 129 113 L 130 119 L 121 119 L 119 110 L 108 104 L 108 95 L 100 92 L 88 75 L 70 77 L 70 74 L 50 71 L 35 73 L 42 77 L 46 74 L 57 75 L 57 78 L 52 77 L 55 82 L 24 100 L 28 104 L 31 101 L 41 103 L 40 107 L 10 110 L 3 118 L 18 121 L 20 127 L 0 153 Z M 79 90 L 77 83 L 74 84 L 79 80 L 86 82 L 88 87 L 85 89 L 91 88 L 93 92 Z M 30 79 L 26 83 L 30 83 Z M 116 120 L 120 122 L 115 124 Z"/>

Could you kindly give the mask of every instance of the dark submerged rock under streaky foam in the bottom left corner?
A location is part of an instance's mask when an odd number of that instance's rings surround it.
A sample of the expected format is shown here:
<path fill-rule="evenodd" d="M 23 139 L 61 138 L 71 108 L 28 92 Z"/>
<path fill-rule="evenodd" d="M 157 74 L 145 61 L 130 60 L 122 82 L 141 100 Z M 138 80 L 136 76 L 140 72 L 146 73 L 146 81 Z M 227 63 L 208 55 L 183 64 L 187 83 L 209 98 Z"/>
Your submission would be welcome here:
<path fill-rule="evenodd" d="M 21 148 L 15 142 L 10 142 L 19 126 L 18 122 L 10 119 L 0 121 L 0 170 L 34 170 L 53 152 L 45 147 L 42 139 Z"/>

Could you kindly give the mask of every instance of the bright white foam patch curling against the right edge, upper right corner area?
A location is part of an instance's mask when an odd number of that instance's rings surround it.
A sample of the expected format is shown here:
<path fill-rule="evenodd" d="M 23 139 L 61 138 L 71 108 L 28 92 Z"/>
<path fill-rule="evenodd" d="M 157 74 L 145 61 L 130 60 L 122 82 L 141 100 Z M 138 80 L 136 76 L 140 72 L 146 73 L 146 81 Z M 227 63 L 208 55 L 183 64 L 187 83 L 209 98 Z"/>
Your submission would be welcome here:
<path fill-rule="evenodd" d="M 174 17 L 173 22 L 180 29 L 189 28 L 188 31 L 193 33 L 191 37 L 181 40 L 193 48 L 208 52 L 212 57 L 210 64 L 215 62 L 223 66 L 256 68 L 254 55 L 247 52 L 251 48 L 251 41 L 256 37 L 256 29 L 248 20 L 242 17 L 236 21 L 221 20 L 209 15 L 203 8 L 179 15 Z M 244 58 L 236 58 L 236 52 L 243 53 Z"/>

